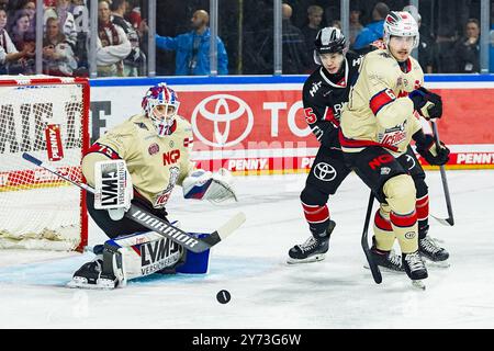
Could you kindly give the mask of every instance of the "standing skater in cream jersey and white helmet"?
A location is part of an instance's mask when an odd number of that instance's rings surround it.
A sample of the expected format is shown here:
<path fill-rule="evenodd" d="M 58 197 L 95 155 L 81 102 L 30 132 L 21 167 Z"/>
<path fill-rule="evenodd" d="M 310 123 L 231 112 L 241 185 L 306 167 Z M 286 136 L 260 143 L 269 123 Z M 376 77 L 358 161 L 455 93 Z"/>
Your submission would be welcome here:
<path fill-rule="evenodd" d="M 391 12 L 386 16 L 384 43 L 386 48 L 364 56 L 341 114 L 340 145 L 347 165 L 381 203 L 374 218 L 374 259 L 378 263 L 385 260 L 397 238 L 405 272 L 419 281 L 427 278 L 427 270 L 420 257 L 417 213 L 428 206 L 427 197 L 420 196 L 427 195 L 427 185 L 424 178 L 411 177 L 400 157 L 409 152 L 413 138 L 417 151 L 430 165 L 447 162 L 448 148 L 437 148 L 415 115 L 439 118 L 442 102 L 422 87 L 424 73 L 409 56 L 418 44 L 417 23 L 409 13 Z M 424 237 L 427 228 L 423 228 Z"/>

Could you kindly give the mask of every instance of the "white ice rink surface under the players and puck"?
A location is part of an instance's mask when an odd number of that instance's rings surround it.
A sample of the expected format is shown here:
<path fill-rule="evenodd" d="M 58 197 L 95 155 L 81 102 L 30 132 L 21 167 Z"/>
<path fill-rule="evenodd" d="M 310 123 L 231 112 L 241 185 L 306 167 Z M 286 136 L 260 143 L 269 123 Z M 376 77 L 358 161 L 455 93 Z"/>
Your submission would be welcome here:
<path fill-rule="evenodd" d="M 430 218 L 451 267 L 430 268 L 427 290 L 404 274 L 377 285 L 360 247 L 369 191 L 355 176 L 329 200 L 337 226 L 326 260 L 288 265 L 308 237 L 299 194 L 306 174 L 238 177 L 239 202 L 181 199 L 170 218 L 212 231 L 237 211 L 247 222 L 211 251 L 204 275 L 154 275 L 114 291 L 65 287 L 85 254 L 0 252 L 0 328 L 494 328 L 494 171 L 448 171 L 456 225 Z M 430 212 L 447 217 L 439 172 L 427 172 Z M 103 236 L 90 226 L 90 244 Z M 216 293 L 227 290 L 228 304 Z"/>

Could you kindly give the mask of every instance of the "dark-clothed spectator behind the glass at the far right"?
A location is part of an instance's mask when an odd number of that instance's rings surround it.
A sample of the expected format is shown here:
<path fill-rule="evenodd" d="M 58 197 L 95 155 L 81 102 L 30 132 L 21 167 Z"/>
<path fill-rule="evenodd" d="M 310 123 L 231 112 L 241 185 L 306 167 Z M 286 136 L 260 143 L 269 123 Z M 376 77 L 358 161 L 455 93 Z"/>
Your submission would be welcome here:
<path fill-rule="evenodd" d="M 458 58 L 458 72 L 479 73 L 480 72 L 480 24 L 479 20 L 470 19 L 465 25 L 465 37 L 460 38 L 456 44 Z"/>

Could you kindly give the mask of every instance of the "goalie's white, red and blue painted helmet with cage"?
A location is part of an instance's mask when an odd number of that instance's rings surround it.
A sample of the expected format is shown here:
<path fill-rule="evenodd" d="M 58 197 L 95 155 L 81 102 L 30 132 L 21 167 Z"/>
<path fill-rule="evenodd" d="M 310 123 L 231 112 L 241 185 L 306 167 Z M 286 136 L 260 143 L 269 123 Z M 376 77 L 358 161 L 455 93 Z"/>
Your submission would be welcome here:
<path fill-rule="evenodd" d="M 164 114 L 155 109 L 160 105 L 165 106 Z M 177 93 L 173 89 L 167 87 L 166 83 L 158 83 L 149 88 L 142 102 L 143 110 L 153 121 L 158 136 L 171 134 L 171 127 L 173 126 L 179 105 Z"/>

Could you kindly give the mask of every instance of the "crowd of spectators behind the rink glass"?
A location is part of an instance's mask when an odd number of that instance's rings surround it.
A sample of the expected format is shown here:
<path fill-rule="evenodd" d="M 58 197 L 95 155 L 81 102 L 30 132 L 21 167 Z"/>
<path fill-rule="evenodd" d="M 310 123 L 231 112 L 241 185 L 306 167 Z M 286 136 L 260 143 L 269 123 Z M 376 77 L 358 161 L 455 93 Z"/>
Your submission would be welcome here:
<path fill-rule="evenodd" d="M 88 77 L 89 2 L 43 1 L 44 73 Z M 156 4 L 156 73 L 209 75 L 210 1 L 159 0 Z M 284 0 L 283 75 L 310 73 L 315 68 L 315 34 L 324 26 L 341 27 L 339 5 L 339 0 Z M 480 72 L 480 0 L 420 0 L 419 11 L 406 0 L 350 0 L 345 33 L 350 49 L 361 54 L 372 49 L 372 43 L 382 37 L 390 10 L 408 11 L 419 23 L 418 60 L 425 72 Z M 221 1 L 218 11 L 217 73 L 272 75 L 273 1 Z M 34 0 L 0 0 L 1 75 L 35 72 L 35 14 Z M 98 77 L 148 73 L 146 18 L 146 0 L 98 1 Z"/>

